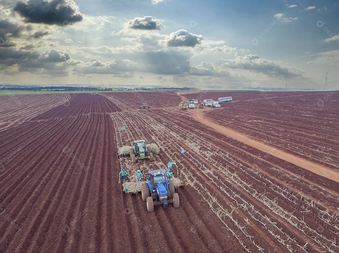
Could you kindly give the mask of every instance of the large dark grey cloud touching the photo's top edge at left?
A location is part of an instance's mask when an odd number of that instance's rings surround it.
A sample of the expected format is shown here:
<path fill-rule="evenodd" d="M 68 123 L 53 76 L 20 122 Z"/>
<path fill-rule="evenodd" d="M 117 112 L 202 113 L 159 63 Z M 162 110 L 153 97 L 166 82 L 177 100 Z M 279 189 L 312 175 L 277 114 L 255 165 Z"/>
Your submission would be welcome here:
<path fill-rule="evenodd" d="M 20 0 L 14 10 L 30 23 L 63 25 L 65 21 L 75 23 L 83 19 L 73 0 Z"/>

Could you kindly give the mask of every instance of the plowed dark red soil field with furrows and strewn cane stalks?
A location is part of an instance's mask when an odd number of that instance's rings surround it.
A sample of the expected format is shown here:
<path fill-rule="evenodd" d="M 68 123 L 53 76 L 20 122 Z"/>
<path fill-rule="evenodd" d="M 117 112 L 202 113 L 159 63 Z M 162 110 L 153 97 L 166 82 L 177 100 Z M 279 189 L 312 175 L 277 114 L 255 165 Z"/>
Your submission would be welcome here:
<path fill-rule="evenodd" d="M 339 252 L 338 95 L 319 93 L 316 107 L 308 93 L 267 94 L 276 106 L 243 92 L 187 111 L 157 92 L 1 100 L 13 124 L 0 130 L 0 252 Z M 139 139 L 160 147 L 155 161 L 118 156 Z M 170 159 L 185 182 L 180 207 L 147 212 L 122 191 L 121 166 L 131 181 Z"/>

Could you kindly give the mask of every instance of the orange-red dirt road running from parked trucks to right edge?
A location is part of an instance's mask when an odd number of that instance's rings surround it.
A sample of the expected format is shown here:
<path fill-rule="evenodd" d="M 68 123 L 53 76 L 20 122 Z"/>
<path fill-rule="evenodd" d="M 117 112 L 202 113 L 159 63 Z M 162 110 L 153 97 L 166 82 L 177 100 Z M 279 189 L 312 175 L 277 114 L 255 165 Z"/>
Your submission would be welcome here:
<path fill-rule="evenodd" d="M 285 151 L 279 150 L 277 148 L 271 147 L 269 145 L 266 145 L 264 143 L 261 143 L 259 141 L 253 140 L 252 138 L 244 135 L 241 132 L 238 132 L 234 129 L 224 127 L 222 125 L 219 125 L 211 120 L 206 119 L 203 117 L 204 110 L 194 110 L 193 111 L 193 118 L 202 124 L 205 124 L 219 133 L 222 133 L 226 136 L 229 136 L 231 138 L 234 138 L 235 140 L 242 142 L 248 146 L 254 147 L 262 152 L 265 152 L 267 154 L 273 155 L 275 157 L 278 157 L 284 161 L 293 163 L 296 166 L 299 166 L 305 170 L 311 171 L 319 176 L 326 177 L 328 179 L 331 179 L 333 181 L 339 182 L 339 172 L 336 170 L 333 170 L 331 168 L 325 167 L 321 164 L 306 160 L 300 156 L 292 155 L 290 153 L 287 153 Z"/>

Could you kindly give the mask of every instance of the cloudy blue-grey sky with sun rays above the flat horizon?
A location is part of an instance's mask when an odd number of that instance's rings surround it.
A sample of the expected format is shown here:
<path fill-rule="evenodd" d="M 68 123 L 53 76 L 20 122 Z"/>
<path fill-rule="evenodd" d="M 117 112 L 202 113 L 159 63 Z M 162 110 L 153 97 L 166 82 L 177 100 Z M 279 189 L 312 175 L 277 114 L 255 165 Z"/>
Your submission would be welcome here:
<path fill-rule="evenodd" d="M 338 1 L 0 0 L 0 82 L 322 88 Z M 255 83 L 255 84 L 254 84 Z"/>

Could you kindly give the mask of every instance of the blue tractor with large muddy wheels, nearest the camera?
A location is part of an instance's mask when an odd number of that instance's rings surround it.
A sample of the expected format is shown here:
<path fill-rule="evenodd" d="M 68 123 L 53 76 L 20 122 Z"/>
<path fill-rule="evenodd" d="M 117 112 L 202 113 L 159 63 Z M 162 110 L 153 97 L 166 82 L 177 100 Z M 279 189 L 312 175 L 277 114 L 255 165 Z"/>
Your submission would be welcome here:
<path fill-rule="evenodd" d="M 166 170 L 148 171 L 148 179 L 142 184 L 141 197 L 146 201 L 149 212 L 153 212 L 155 205 L 167 208 L 168 204 L 173 203 L 174 208 L 179 207 L 179 195 L 174 193 L 174 182 L 167 180 L 165 174 Z"/>

